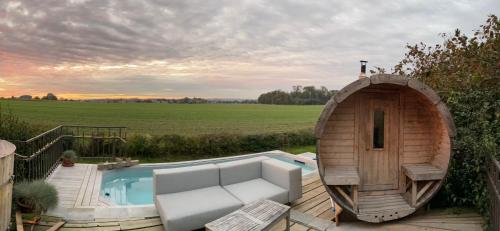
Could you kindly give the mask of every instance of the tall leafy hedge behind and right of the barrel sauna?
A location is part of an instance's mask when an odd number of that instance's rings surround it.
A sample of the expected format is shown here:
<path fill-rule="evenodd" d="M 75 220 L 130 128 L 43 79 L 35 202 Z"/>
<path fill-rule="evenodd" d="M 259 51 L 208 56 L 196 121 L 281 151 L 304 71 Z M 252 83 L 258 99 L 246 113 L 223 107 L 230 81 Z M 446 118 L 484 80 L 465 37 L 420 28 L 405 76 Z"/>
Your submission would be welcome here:
<path fill-rule="evenodd" d="M 442 44 L 408 45 L 393 72 L 440 92 L 457 127 L 449 174 L 431 205 L 474 206 L 488 216 L 485 161 L 500 158 L 500 21 L 491 15 L 471 37 L 458 29 L 442 37 Z"/>

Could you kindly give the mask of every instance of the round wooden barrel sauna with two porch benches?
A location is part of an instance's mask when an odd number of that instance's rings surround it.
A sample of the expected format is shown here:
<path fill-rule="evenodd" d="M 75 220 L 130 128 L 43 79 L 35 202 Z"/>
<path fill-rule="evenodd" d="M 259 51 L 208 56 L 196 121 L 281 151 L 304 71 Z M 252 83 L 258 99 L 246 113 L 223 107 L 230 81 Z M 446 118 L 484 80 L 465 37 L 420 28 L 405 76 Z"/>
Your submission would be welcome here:
<path fill-rule="evenodd" d="M 325 105 L 316 124 L 320 178 L 359 220 L 405 217 L 443 183 L 452 117 L 425 84 L 399 75 L 361 78 Z"/>

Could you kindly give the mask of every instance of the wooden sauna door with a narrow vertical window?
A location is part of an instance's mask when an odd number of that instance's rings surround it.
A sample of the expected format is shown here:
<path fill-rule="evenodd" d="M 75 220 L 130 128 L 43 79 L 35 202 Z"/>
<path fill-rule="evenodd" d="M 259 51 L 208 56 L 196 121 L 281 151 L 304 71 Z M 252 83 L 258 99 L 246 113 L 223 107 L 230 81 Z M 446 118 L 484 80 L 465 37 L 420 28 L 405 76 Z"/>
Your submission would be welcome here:
<path fill-rule="evenodd" d="M 360 190 L 398 189 L 399 94 L 363 93 L 359 108 Z"/>

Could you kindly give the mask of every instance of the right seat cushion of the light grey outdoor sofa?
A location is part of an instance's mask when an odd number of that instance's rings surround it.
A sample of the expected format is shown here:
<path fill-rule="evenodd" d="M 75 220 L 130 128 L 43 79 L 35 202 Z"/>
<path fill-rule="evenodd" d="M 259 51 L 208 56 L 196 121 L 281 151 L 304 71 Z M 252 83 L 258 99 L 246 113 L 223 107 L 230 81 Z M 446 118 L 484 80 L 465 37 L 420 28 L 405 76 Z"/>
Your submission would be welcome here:
<path fill-rule="evenodd" d="M 261 199 L 269 199 L 282 204 L 288 203 L 288 191 L 268 181 L 258 178 L 223 186 L 245 204 Z"/>

